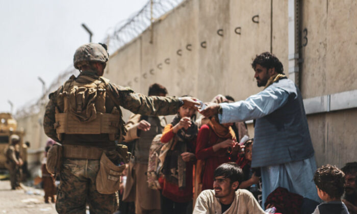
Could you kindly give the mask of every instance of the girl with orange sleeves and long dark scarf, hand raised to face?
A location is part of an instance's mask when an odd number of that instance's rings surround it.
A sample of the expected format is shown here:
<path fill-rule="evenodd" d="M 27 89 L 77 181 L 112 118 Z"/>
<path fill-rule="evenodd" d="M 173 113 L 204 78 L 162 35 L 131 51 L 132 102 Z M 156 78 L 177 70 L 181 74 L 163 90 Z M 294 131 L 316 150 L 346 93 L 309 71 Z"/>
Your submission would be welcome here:
<path fill-rule="evenodd" d="M 195 113 L 194 109 L 181 106 L 161 137 L 162 143 L 173 139 L 163 164 L 164 176 L 159 179 L 162 186 L 162 213 L 186 213 L 187 206 L 192 201 L 192 170 L 198 132 L 197 125 L 192 120 Z"/>

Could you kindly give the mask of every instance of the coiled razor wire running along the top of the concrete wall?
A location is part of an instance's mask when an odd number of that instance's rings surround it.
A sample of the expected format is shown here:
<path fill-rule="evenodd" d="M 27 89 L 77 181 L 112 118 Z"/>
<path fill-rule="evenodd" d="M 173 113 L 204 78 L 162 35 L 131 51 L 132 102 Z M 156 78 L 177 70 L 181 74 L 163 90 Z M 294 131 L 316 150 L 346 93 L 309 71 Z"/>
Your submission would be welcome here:
<path fill-rule="evenodd" d="M 138 12 L 134 13 L 129 18 L 118 22 L 112 32 L 108 33 L 102 43 L 108 45 L 108 50 L 114 52 L 125 44 L 131 42 L 142 32 L 144 32 L 150 25 L 165 13 L 174 9 L 185 0 L 149 0 Z M 54 81 L 46 88 L 41 97 L 31 100 L 16 110 L 15 118 L 27 117 L 37 114 L 41 108 L 47 103 L 48 94 L 55 91 L 64 83 L 66 79 L 72 74 L 75 74 L 73 65 L 62 71 Z"/>

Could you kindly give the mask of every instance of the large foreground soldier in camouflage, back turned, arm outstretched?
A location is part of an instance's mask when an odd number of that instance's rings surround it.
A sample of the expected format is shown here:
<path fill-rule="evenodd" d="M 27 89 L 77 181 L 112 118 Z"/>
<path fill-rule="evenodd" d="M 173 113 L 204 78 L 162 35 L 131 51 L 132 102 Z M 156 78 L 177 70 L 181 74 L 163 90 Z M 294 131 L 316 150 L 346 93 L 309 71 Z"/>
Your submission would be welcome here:
<path fill-rule="evenodd" d="M 109 165 L 121 167 L 128 161 L 124 147 L 115 143 L 120 142 L 126 132 L 120 106 L 134 114 L 157 116 L 175 114 L 182 105 L 196 108 L 199 104 L 189 97 L 147 97 L 111 84 L 101 77 L 108 59 L 104 44 L 80 46 L 73 59 L 80 75 L 72 75 L 49 95 L 44 131 L 63 145 L 56 201 L 59 213 L 85 213 L 86 203 L 90 213 L 112 213 L 118 209 L 118 192 L 101 194 L 98 186 L 106 188 L 113 182 L 118 182 L 115 187 L 119 186 L 121 172 L 108 170 L 103 183 L 96 183 L 96 180 L 97 174 L 107 167 L 102 168 L 99 162 L 103 156 L 112 161 Z"/>

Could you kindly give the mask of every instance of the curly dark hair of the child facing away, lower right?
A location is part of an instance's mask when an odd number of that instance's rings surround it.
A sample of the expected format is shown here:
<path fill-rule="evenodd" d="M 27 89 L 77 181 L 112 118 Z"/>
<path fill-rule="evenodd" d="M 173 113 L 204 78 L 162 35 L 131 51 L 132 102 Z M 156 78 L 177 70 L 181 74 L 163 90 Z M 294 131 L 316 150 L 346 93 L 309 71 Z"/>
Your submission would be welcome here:
<path fill-rule="evenodd" d="M 345 173 L 336 166 L 327 164 L 316 170 L 314 182 L 331 198 L 340 199 L 345 188 Z"/>

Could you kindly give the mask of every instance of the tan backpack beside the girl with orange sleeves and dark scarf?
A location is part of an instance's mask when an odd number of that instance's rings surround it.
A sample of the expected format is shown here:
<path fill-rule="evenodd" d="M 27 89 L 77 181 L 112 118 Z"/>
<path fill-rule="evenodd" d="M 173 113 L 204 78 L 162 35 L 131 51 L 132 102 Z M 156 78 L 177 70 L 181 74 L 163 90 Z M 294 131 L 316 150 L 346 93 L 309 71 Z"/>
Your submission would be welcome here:
<path fill-rule="evenodd" d="M 164 164 L 167 151 L 171 148 L 173 138 L 166 144 L 161 142 L 162 133 L 155 136 L 149 150 L 149 161 L 147 164 L 147 185 L 150 189 L 160 190 L 159 177 Z"/>

